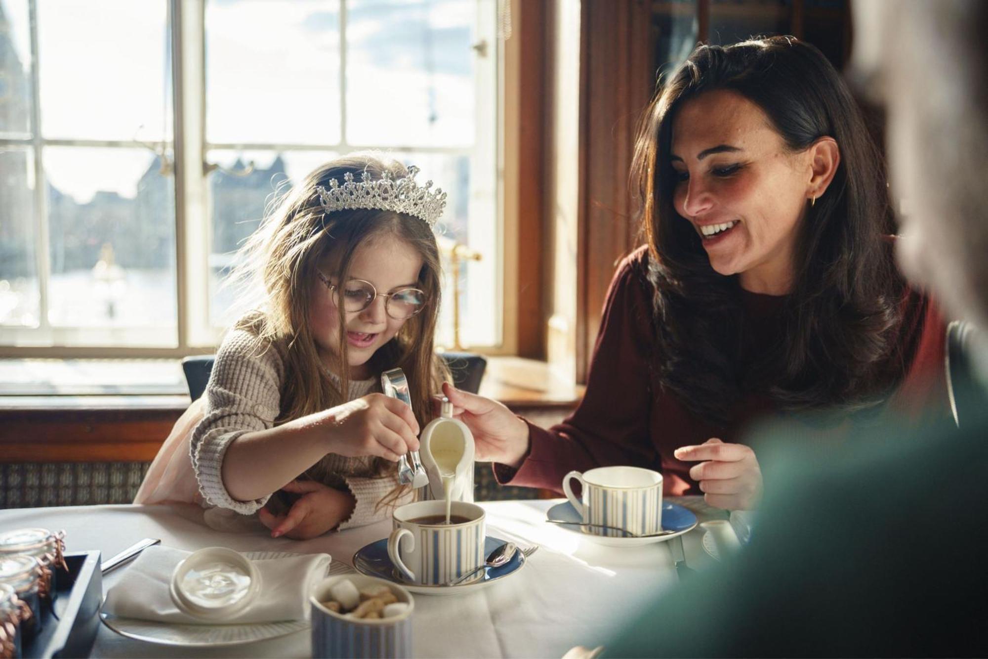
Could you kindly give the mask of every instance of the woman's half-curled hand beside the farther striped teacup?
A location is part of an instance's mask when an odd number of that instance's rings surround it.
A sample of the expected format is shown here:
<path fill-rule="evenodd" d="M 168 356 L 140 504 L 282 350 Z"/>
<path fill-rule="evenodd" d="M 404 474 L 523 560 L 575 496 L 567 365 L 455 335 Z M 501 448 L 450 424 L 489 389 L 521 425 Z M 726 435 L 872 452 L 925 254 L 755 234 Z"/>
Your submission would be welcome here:
<path fill-rule="evenodd" d="M 682 446 L 674 455 L 679 460 L 706 460 L 690 469 L 690 477 L 700 481 L 703 499 L 710 506 L 728 511 L 749 511 L 762 497 L 762 469 L 755 451 L 744 444 L 725 444 L 707 439 L 699 446 Z"/>

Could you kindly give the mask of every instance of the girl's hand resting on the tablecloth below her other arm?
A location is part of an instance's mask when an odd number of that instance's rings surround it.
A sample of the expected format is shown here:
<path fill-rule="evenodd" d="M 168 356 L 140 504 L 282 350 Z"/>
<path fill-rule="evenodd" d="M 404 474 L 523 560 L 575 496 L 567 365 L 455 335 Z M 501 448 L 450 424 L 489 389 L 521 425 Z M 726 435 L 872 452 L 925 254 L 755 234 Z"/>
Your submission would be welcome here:
<path fill-rule="evenodd" d="M 282 489 L 302 496 L 288 515 L 275 516 L 267 508 L 258 511 L 261 523 L 271 529 L 271 537 L 288 535 L 295 540 L 307 540 L 322 535 L 350 518 L 357 506 L 357 500 L 349 492 L 315 481 L 291 481 Z"/>

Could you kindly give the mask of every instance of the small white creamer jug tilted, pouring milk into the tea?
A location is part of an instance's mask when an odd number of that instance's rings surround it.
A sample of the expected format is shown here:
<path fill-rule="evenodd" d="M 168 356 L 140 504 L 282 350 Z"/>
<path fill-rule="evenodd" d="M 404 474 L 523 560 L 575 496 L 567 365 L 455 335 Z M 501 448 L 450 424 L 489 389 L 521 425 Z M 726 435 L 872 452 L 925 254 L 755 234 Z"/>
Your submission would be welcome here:
<path fill-rule="evenodd" d="M 442 414 L 419 435 L 419 453 L 429 475 L 427 498 L 473 501 L 473 433 L 453 419 L 453 404 L 443 397 Z"/>

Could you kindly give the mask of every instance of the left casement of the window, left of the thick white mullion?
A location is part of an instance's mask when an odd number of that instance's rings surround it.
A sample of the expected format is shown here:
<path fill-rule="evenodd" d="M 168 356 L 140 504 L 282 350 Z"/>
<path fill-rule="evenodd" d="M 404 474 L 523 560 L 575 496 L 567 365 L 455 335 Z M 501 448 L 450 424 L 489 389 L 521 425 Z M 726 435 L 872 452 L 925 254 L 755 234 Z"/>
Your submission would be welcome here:
<path fill-rule="evenodd" d="M 167 45 L 163 3 L 0 3 L 4 344 L 176 344 Z"/>

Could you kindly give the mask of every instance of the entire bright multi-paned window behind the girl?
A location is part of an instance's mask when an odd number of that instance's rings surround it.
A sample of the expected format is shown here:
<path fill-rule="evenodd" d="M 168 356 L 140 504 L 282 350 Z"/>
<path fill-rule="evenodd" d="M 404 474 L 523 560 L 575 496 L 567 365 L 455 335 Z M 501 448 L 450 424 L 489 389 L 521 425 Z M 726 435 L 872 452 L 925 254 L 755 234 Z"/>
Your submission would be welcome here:
<path fill-rule="evenodd" d="M 223 277 L 272 194 L 364 148 L 447 190 L 441 243 L 480 255 L 459 268 L 461 342 L 500 343 L 497 11 L 0 0 L 0 345 L 213 344 L 242 311 Z"/>

